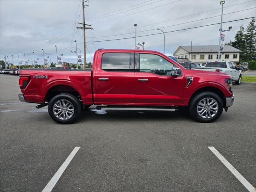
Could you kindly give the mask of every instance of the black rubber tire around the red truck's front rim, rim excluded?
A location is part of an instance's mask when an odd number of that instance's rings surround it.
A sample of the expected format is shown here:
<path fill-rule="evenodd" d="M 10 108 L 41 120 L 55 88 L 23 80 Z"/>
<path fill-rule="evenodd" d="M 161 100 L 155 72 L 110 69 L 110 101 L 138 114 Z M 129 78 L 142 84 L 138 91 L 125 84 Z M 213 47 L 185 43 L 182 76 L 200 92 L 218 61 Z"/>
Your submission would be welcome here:
<path fill-rule="evenodd" d="M 218 103 L 218 111 L 213 117 L 203 118 L 197 112 L 197 106 L 198 106 L 199 102 L 204 98 L 212 98 L 212 99 L 216 100 L 216 102 Z M 195 96 L 193 96 L 193 98 L 191 98 L 191 100 L 190 100 L 190 105 L 189 105 L 190 116 L 198 122 L 201 122 L 201 123 L 214 122 L 215 120 L 217 120 L 220 117 L 220 115 L 222 114 L 222 111 L 223 111 L 223 102 L 222 102 L 220 96 L 218 96 L 217 94 L 215 94 L 213 92 L 200 92 L 200 93 L 196 94 Z"/>

